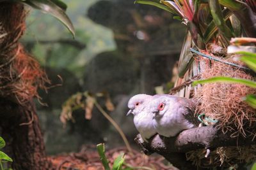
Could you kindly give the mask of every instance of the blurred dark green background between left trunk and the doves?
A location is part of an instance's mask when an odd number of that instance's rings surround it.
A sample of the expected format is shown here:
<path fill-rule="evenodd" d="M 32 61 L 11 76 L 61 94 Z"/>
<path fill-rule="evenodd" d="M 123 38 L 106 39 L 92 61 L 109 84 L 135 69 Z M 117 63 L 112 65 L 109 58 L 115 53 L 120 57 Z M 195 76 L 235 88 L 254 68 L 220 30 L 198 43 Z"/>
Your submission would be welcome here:
<path fill-rule="evenodd" d="M 153 6 L 132 0 L 63 0 L 76 29 L 76 39 L 58 20 L 32 10 L 22 44 L 44 67 L 51 85 L 40 92 L 37 113 L 47 154 L 77 152 L 85 145 L 124 146 L 116 129 L 93 107 L 71 120 L 60 120 L 62 106 L 77 92 L 108 94 L 114 110 L 99 103 L 135 146 L 127 102 L 134 94 L 168 93 L 185 35 L 181 21 Z M 160 89 L 160 90 L 159 90 Z M 47 104 L 47 106 L 45 106 Z"/>

